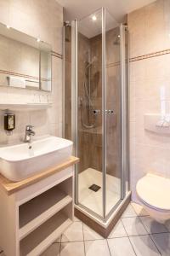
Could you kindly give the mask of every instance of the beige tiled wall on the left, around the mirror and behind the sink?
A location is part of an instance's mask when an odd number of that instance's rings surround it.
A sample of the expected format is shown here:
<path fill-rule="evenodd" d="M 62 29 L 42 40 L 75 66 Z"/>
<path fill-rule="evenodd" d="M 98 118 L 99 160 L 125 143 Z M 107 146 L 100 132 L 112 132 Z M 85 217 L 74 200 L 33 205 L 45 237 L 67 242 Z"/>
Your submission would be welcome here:
<path fill-rule="evenodd" d="M 0 22 L 52 45 L 62 55 L 63 8 L 55 0 L 0 0 Z M 35 125 L 37 136 L 62 136 L 62 60 L 52 57 L 52 93 L 36 90 L 0 88 L 0 103 L 53 103 L 47 111 L 16 112 L 16 129 L 12 136 L 3 131 L 3 112 L 0 112 L 0 145 L 18 143 L 24 137 L 25 126 Z"/>

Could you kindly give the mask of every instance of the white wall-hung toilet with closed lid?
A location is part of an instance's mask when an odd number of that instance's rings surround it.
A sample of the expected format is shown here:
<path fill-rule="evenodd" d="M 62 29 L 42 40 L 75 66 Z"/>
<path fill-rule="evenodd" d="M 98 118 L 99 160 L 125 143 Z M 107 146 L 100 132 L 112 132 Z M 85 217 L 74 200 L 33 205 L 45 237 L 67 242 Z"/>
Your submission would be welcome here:
<path fill-rule="evenodd" d="M 136 192 L 150 217 L 162 224 L 170 218 L 170 178 L 148 173 L 139 179 Z"/>

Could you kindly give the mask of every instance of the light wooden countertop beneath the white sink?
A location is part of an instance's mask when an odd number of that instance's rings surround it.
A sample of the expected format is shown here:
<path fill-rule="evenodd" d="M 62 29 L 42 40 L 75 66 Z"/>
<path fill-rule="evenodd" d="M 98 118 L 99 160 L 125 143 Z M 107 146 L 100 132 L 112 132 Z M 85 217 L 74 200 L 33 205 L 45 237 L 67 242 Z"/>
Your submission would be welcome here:
<path fill-rule="evenodd" d="M 8 178 L 4 177 L 0 174 L 0 187 L 5 190 L 5 192 L 8 195 L 13 194 L 14 192 L 24 189 L 28 186 L 30 186 L 33 183 L 37 183 L 38 181 L 42 180 L 45 177 L 48 177 L 50 175 L 53 175 L 56 172 L 60 172 L 64 170 L 67 167 L 73 166 L 77 164 L 79 159 L 75 156 L 71 156 L 69 160 L 65 160 L 64 163 L 60 164 L 59 166 L 55 166 L 53 168 L 49 168 L 48 170 L 45 170 L 43 172 L 39 172 L 34 176 L 27 177 L 24 180 L 21 180 L 19 182 L 12 182 L 8 180 Z"/>

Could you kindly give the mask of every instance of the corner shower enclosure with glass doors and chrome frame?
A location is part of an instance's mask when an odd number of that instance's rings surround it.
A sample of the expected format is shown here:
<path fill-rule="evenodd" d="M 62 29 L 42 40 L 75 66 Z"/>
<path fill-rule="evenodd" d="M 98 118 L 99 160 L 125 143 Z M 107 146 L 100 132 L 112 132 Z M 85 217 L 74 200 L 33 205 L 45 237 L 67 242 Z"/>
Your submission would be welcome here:
<path fill-rule="evenodd" d="M 128 32 L 101 8 L 65 26 L 65 137 L 76 207 L 106 222 L 129 195 Z"/>

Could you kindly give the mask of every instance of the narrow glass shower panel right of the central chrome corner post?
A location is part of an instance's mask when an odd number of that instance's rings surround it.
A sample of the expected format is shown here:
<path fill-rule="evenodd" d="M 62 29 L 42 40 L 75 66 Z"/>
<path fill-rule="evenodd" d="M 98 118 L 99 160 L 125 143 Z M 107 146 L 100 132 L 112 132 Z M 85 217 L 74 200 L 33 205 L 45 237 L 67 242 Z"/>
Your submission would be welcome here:
<path fill-rule="evenodd" d="M 105 11 L 105 215 L 121 199 L 122 90 L 120 26 Z"/>

